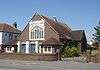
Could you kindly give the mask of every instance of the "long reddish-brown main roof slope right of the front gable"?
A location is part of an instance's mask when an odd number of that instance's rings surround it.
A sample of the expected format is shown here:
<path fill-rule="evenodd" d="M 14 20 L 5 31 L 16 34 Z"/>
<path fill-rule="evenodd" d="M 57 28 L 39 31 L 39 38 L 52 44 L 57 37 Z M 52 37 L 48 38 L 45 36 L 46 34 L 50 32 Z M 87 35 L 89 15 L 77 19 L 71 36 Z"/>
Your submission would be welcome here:
<path fill-rule="evenodd" d="M 63 35 L 64 38 L 67 38 L 68 36 L 70 36 L 71 29 L 66 24 L 54 21 L 43 15 L 42 15 L 42 17 L 50 24 L 51 27 L 54 28 L 54 30 L 56 32 L 58 32 L 59 36 Z M 67 35 L 67 37 L 66 37 L 66 35 Z"/>

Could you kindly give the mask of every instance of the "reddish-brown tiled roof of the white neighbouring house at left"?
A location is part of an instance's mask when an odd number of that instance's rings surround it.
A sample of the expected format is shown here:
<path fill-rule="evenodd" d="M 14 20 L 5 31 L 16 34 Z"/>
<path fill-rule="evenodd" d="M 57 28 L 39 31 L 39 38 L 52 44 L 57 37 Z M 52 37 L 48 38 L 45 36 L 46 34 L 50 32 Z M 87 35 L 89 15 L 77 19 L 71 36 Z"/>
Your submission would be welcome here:
<path fill-rule="evenodd" d="M 13 32 L 13 33 L 20 33 L 21 31 L 6 24 L 6 23 L 0 23 L 0 31 L 4 32 Z"/>

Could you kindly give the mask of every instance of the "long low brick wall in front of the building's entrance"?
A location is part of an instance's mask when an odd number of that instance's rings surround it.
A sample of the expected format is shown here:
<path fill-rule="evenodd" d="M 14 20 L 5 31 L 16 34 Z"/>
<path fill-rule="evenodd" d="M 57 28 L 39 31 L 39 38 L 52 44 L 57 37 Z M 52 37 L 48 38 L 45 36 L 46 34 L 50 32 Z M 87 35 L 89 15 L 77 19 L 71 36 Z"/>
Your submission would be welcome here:
<path fill-rule="evenodd" d="M 27 60 L 27 61 L 56 61 L 57 54 L 22 54 L 0 53 L 0 59 Z"/>

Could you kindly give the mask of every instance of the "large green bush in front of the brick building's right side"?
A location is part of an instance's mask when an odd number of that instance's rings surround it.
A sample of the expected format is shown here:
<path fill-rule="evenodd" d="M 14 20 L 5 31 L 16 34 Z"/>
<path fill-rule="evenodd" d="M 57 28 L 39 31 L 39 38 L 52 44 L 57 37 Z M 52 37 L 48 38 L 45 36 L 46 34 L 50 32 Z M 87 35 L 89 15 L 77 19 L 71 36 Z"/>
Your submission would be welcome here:
<path fill-rule="evenodd" d="M 79 49 L 77 46 L 77 42 L 69 41 L 64 44 L 61 51 L 62 57 L 74 57 L 79 55 Z"/>

